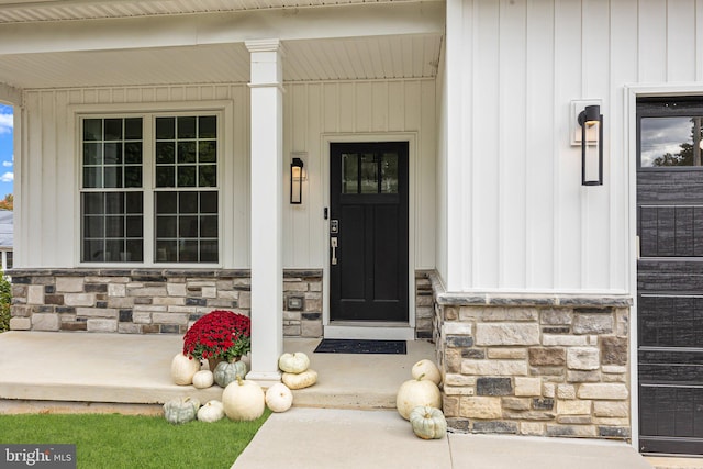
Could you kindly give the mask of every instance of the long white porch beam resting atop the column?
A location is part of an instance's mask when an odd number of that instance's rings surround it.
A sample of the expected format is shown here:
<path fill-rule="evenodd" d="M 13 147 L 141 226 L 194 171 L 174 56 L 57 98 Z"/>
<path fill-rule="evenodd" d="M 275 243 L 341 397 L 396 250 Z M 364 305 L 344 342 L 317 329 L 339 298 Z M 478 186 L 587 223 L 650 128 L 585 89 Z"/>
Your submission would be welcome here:
<path fill-rule="evenodd" d="M 394 2 L 5 23 L 0 24 L 0 55 L 231 44 L 267 37 L 295 41 L 443 32 L 444 2 Z"/>

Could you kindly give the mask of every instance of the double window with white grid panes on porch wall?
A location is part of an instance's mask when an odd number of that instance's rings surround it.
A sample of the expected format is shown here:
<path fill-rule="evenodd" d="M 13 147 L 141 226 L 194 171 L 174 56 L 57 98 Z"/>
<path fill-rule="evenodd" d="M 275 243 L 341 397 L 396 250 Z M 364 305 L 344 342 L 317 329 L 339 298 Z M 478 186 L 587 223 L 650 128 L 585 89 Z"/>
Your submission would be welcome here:
<path fill-rule="evenodd" d="M 83 119 L 82 129 L 83 263 L 219 261 L 216 115 Z"/>

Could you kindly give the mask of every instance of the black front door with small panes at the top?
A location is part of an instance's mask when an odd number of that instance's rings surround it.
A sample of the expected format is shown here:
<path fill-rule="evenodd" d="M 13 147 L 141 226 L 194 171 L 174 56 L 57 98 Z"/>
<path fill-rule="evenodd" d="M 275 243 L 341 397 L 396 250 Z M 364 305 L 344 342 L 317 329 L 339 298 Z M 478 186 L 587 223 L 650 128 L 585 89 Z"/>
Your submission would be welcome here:
<path fill-rule="evenodd" d="M 330 157 L 330 319 L 408 322 L 408 142 Z"/>

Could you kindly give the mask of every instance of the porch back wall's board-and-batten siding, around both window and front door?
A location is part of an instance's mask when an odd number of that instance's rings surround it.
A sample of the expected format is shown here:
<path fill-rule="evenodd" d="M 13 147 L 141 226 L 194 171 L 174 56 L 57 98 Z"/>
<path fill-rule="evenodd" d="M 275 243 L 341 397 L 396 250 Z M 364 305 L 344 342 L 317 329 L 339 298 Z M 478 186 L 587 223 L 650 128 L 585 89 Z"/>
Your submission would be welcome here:
<path fill-rule="evenodd" d="M 326 263 L 328 175 L 323 134 L 412 135 L 416 142 L 411 210 L 417 268 L 434 267 L 435 249 L 435 85 L 433 80 L 286 83 L 284 94 L 284 259 L 286 268 L 323 268 Z M 224 122 L 226 144 L 220 172 L 223 210 L 221 266 L 249 267 L 249 89 L 245 83 L 26 90 L 25 130 L 16 164 L 22 200 L 22 249 L 16 267 L 74 267 L 79 264 L 80 158 L 76 110 L 99 115 L 152 112 L 198 102 L 231 102 Z M 354 136 L 349 137 L 354 139 Z M 222 152 L 222 150 L 221 150 Z M 303 204 L 290 205 L 292 152 L 306 152 Z M 29 185 L 31 182 L 31 188 Z M 40 189 L 41 188 L 41 189 Z M 412 230 L 412 226 L 411 226 Z"/>

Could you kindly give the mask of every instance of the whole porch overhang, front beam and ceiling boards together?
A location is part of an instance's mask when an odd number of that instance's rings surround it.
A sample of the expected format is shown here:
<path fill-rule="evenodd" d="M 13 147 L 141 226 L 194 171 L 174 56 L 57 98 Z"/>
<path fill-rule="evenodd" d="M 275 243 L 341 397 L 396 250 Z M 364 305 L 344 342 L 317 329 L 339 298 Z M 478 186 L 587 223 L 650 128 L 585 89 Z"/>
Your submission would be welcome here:
<path fill-rule="evenodd" d="M 0 0 L 0 86 L 247 82 L 272 37 L 286 81 L 426 78 L 443 34 L 443 0 Z"/>

